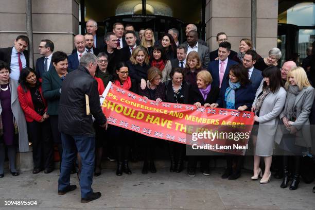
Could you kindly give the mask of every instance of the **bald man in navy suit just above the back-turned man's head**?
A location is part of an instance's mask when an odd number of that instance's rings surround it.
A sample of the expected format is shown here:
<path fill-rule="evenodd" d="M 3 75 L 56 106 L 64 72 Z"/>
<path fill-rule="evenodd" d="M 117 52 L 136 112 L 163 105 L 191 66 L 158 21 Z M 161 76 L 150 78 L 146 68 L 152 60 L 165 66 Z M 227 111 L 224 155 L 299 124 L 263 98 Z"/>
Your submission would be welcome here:
<path fill-rule="evenodd" d="M 77 69 L 79 66 L 79 60 L 86 53 L 85 50 L 85 38 L 79 34 L 74 39 L 77 52 L 68 56 L 68 68 Z"/>

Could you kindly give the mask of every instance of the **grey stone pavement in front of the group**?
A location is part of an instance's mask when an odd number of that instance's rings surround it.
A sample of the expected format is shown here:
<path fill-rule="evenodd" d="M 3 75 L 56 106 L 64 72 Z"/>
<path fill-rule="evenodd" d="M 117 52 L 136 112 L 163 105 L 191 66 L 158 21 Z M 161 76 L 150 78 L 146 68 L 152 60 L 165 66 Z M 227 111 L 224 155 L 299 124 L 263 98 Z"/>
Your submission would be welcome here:
<path fill-rule="evenodd" d="M 188 177 L 186 171 L 169 172 L 168 163 L 156 164 L 157 173 L 141 173 L 141 164 L 131 164 L 132 174 L 115 175 L 115 168 L 102 170 L 93 180 L 93 190 L 102 197 L 82 204 L 78 179 L 72 174 L 71 183 L 78 188 L 58 195 L 59 170 L 49 174 L 31 171 L 12 177 L 8 169 L 0 179 L 0 209 L 315 209 L 314 183 L 300 183 L 297 190 L 280 188 L 281 180 L 272 178 L 268 184 L 252 181 L 252 172 L 244 170 L 235 181 L 221 179 L 223 168 L 210 176 L 197 172 Z M 32 200 L 37 205 L 5 205 L 5 201 Z"/>

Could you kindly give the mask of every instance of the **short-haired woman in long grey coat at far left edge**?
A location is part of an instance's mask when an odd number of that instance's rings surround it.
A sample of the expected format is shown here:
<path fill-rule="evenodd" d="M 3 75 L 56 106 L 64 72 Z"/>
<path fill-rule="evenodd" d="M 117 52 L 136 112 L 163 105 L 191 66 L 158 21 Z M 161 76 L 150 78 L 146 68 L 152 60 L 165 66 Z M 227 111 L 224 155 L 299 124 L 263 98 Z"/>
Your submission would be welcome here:
<path fill-rule="evenodd" d="M 29 151 L 25 116 L 17 100 L 17 81 L 10 78 L 10 73 L 10 66 L 0 61 L 0 178 L 4 177 L 5 148 L 12 176 L 19 176 L 15 168 L 16 147 L 20 152 Z"/>

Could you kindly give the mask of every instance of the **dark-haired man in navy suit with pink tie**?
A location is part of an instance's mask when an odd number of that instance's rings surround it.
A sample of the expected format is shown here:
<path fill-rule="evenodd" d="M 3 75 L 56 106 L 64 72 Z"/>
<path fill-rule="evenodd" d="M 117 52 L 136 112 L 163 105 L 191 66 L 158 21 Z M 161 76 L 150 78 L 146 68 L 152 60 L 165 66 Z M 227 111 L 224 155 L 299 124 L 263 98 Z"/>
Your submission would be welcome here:
<path fill-rule="evenodd" d="M 230 42 L 221 42 L 218 49 L 219 59 L 217 61 L 212 61 L 208 66 L 208 71 L 211 73 L 213 79 L 211 85 L 221 88 L 222 81 L 225 82 L 224 78 L 229 76 L 229 66 L 237 64 L 237 62 L 228 58 L 230 53 Z"/>

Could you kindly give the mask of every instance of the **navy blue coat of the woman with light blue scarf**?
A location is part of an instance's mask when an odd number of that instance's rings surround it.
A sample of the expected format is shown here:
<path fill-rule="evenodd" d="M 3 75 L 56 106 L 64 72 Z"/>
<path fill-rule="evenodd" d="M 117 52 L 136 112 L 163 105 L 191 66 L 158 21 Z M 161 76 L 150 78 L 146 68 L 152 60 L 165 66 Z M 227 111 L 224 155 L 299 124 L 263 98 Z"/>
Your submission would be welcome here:
<path fill-rule="evenodd" d="M 217 103 L 220 108 L 226 108 L 225 91 L 230 87 L 229 80 L 222 81 L 222 86 L 220 89 L 219 98 Z M 255 91 L 251 84 L 241 86 L 239 89 L 235 90 L 235 109 L 246 105 L 248 108 L 246 111 L 250 111 L 252 108 L 253 101 L 255 99 Z"/>

